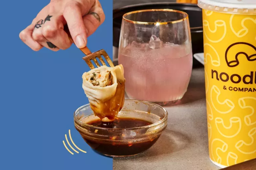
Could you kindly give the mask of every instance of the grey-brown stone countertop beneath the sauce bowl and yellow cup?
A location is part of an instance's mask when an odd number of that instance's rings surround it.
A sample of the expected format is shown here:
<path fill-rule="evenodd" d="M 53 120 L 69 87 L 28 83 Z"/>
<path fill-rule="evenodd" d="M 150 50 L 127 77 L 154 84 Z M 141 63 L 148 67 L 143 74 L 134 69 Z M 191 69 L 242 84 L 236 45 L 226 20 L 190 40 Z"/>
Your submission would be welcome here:
<path fill-rule="evenodd" d="M 168 126 L 146 152 L 114 158 L 113 170 L 218 170 L 209 159 L 204 69 L 194 69 L 181 102 L 165 107 Z"/>

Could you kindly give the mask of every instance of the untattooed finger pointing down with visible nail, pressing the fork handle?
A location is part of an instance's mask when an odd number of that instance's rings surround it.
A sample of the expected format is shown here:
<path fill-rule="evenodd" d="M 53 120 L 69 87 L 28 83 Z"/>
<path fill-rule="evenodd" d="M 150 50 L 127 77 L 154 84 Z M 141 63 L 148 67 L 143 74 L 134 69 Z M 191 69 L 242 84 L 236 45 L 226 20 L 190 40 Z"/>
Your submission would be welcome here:
<path fill-rule="evenodd" d="M 87 29 L 82 18 L 81 5 L 77 2 L 68 3 L 63 12 L 72 39 L 78 48 L 87 44 Z"/>

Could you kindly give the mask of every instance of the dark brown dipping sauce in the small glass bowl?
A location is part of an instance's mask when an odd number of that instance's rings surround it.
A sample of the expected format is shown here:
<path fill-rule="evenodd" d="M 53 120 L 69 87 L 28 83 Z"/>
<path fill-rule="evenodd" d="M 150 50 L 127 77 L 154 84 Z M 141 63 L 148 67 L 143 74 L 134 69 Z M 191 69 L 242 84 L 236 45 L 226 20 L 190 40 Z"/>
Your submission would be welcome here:
<path fill-rule="evenodd" d="M 134 119 L 134 118 L 117 118 L 113 122 L 105 123 L 98 121 L 92 121 L 87 123 L 88 125 L 92 125 L 95 127 L 101 127 L 101 128 L 138 128 L 143 126 L 151 125 L 151 122 L 140 120 L 140 119 Z M 143 133 L 146 133 L 148 128 L 145 129 Z M 138 141 L 140 134 L 134 130 L 134 134 L 126 134 L 126 130 L 123 130 L 124 132 L 121 134 L 118 134 L 116 136 L 110 136 L 109 141 L 94 141 L 91 139 L 86 138 L 83 136 L 84 140 L 89 144 L 94 150 L 97 152 L 103 153 L 105 155 L 109 156 L 132 156 L 139 154 L 147 149 L 149 149 L 159 138 L 160 134 L 154 135 L 152 138 L 147 138 L 142 141 Z M 97 131 L 98 134 L 100 134 L 100 129 Z M 134 140 L 125 141 L 126 135 L 132 135 L 134 136 Z"/>

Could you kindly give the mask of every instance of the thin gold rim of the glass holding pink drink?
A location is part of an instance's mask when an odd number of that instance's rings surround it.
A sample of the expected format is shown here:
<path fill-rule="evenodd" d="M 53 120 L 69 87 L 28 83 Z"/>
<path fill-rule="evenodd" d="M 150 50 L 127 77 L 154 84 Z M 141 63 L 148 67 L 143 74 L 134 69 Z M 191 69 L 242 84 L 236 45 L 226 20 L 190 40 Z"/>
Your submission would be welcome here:
<path fill-rule="evenodd" d="M 140 12 L 152 12 L 152 11 L 167 11 L 167 12 L 176 12 L 176 13 L 181 13 L 181 14 L 185 14 L 185 18 L 180 19 L 180 20 L 176 20 L 176 21 L 168 21 L 168 22 L 140 22 L 140 21 L 132 21 L 132 20 L 128 20 L 125 18 L 125 16 L 130 15 L 130 14 L 135 14 L 135 13 L 140 13 Z M 183 12 L 183 11 L 178 11 L 178 10 L 173 10 L 173 9 L 145 9 L 145 10 L 138 10 L 138 11 L 132 11 L 132 12 L 128 12 L 126 14 L 123 15 L 123 20 L 129 22 L 129 23 L 133 23 L 133 24 L 144 24 L 144 25 L 164 25 L 164 24 L 175 24 L 175 23 L 179 23 L 182 21 L 185 21 L 188 19 L 188 14 Z"/>

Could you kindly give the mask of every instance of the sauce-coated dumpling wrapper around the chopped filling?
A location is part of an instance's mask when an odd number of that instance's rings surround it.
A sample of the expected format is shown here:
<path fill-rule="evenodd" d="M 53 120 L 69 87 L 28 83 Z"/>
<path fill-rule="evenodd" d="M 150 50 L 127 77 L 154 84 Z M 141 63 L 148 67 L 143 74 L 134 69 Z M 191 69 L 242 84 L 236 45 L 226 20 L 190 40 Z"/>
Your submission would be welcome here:
<path fill-rule="evenodd" d="M 87 75 L 97 71 L 108 70 L 112 74 L 112 85 L 101 87 L 94 86 L 87 80 Z M 83 89 L 89 99 L 94 114 L 103 122 L 113 121 L 124 105 L 124 68 L 123 65 L 115 67 L 101 66 L 85 72 L 83 78 Z"/>

